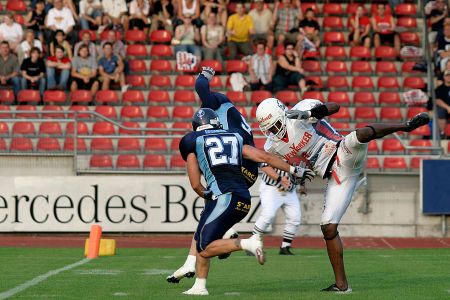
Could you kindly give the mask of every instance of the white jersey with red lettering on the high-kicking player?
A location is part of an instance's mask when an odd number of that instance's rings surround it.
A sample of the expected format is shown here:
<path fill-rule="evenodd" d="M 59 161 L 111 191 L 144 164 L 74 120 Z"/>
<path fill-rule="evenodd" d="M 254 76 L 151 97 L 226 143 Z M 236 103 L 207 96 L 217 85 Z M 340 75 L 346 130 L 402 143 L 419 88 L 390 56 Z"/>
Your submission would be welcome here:
<path fill-rule="evenodd" d="M 320 101 L 318 103 L 321 104 Z M 293 109 L 296 108 L 299 107 L 296 105 Z M 300 108 L 300 110 L 305 110 L 305 108 Z M 311 109 L 311 107 L 306 109 Z M 286 126 L 285 137 L 282 140 L 268 138 L 264 149 L 283 157 L 290 164 L 298 164 L 303 161 L 323 178 L 326 175 L 328 164 L 336 152 L 336 145 L 344 137 L 325 120 L 287 119 Z"/>

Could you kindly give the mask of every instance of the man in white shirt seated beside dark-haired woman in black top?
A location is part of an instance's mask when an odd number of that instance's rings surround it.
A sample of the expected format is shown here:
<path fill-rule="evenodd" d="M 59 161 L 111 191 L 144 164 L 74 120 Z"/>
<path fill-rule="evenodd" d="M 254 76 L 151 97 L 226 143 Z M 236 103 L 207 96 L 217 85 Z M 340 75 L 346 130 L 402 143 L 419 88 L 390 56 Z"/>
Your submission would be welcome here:
<path fill-rule="evenodd" d="M 250 59 L 248 72 L 252 91 L 259 90 L 261 87 L 272 91 L 272 76 L 275 72 L 275 65 L 272 56 L 266 53 L 265 40 L 256 42 L 256 53 Z"/>

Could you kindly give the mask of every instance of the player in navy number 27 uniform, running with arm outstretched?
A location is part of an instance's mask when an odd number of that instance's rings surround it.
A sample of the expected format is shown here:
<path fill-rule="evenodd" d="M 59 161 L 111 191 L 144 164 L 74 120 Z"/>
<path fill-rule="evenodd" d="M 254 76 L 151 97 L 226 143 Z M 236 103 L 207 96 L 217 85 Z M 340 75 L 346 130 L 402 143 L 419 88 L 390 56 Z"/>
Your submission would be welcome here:
<path fill-rule="evenodd" d="M 223 239 L 234 224 L 251 208 L 250 192 L 242 174 L 243 159 L 289 172 L 297 178 L 312 178 L 309 169 L 290 166 L 280 158 L 249 145 L 250 135 L 242 129 L 222 129 L 218 115 L 208 108 L 195 113 L 194 132 L 180 141 L 180 153 L 187 162 L 187 173 L 194 191 L 205 198 L 205 208 L 195 233 L 197 278 L 188 295 L 208 295 L 206 278 L 209 259 L 222 254 L 245 250 L 264 264 L 263 245 L 259 235 L 248 239 Z M 201 183 L 203 174 L 207 187 Z"/>

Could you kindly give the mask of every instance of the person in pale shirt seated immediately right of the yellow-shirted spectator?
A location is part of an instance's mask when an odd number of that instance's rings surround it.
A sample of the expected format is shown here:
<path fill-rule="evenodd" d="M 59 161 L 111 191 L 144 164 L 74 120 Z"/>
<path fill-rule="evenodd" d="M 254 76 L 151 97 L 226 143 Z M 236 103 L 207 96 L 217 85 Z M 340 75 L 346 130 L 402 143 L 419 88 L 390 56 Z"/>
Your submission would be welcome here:
<path fill-rule="evenodd" d="M 272 11 L 265 8 L 264 0 L 254 0 L 255 8 L 252 9 L 248 15 L 253 20 L 253 25 L 255 26 L 255 40 L 265 39 L 267 40 L 267 47 L 269 49 L 273 48 L 274 37 L 272 31 Z"/>

